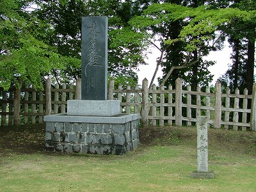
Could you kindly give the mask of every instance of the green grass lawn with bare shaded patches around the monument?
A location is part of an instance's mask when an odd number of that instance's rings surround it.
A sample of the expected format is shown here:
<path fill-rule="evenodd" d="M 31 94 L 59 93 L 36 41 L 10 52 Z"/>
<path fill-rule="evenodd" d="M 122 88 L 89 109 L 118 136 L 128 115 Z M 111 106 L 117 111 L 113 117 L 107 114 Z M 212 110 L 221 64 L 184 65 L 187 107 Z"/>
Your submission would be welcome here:
<path fill-rule="evenodd" d="M 0 140 L 0 191 L 256 191 L 256 132 L 209 130 L 214 179 L 190 177 L 195 127 L 140 129 L 124 156 L 44 152 L 44 125 L 0 127 Z"/>

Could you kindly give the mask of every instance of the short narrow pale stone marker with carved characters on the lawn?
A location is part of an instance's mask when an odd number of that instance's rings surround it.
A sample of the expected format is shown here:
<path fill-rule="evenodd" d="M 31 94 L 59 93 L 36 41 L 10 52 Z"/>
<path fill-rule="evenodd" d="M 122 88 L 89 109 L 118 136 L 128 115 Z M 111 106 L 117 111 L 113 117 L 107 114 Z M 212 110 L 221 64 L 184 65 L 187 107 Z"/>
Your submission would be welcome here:
<path fill-rule="evenodd" d="M 208 170 L 208 130 L 207 116 L 198 116 L 196 118 L 197 128 L 197 172 L 193 172 L 191 177 L 212 179 L 214 172 Z"/>

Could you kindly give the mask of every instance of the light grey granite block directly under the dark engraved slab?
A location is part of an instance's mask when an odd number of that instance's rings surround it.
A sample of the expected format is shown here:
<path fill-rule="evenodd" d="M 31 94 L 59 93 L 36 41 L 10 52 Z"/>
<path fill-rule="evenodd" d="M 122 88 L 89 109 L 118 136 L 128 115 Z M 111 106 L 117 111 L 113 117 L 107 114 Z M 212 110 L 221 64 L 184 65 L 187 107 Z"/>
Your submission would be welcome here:
<path fill-rule="evenodd" d="M 67 115 L 112 116 L 120 113 L 119 100 L 68 100 Z"/>

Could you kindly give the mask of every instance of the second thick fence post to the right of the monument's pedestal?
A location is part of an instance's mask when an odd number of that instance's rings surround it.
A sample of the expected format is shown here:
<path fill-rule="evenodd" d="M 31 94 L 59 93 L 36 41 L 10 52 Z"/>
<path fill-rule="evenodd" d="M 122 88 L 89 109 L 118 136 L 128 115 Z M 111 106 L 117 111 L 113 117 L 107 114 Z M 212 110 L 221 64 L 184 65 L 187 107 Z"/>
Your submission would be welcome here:
<path fill-rule="evenodd" d="M 181 79 L 175 81 L 175 124 L 182 125 L 182 84 Z"/>

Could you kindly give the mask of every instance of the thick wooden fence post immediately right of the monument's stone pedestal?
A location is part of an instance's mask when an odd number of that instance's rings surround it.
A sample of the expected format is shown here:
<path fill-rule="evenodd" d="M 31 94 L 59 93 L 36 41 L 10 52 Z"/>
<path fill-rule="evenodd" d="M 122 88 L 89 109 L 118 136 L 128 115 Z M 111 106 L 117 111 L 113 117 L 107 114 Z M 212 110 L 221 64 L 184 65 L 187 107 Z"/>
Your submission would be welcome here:
<path fill-rule="evenodd" d="M 141 124 L 143 128 L 148 126 L 148 80 L 142 81 Z"/>

